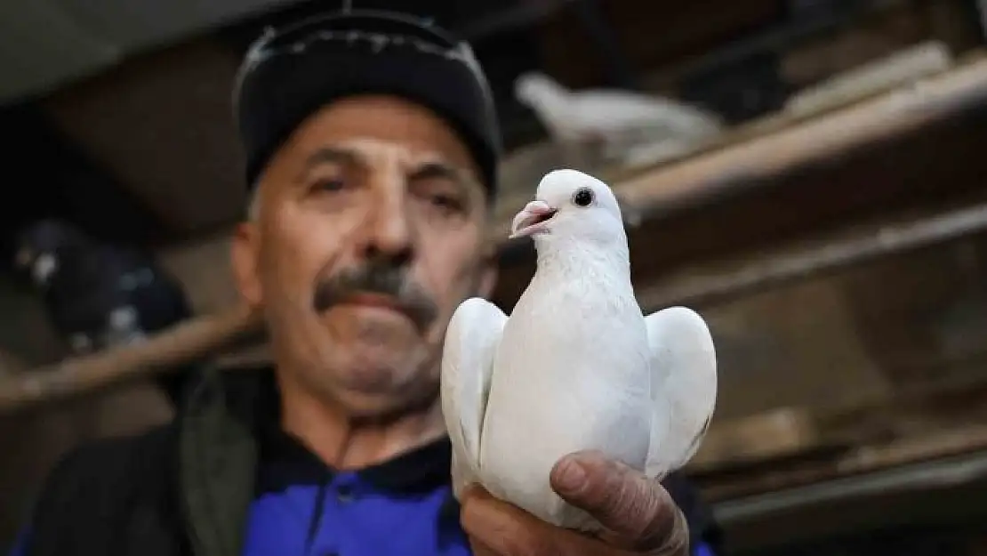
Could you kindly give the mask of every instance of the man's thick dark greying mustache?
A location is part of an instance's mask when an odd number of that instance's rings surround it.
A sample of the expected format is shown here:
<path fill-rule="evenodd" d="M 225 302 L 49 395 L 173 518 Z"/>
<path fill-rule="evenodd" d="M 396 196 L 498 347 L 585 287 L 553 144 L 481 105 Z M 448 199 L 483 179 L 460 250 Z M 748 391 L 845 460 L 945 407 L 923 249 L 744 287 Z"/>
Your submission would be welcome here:
<path fill-rule="evenodd" d="M 409 276 L 407 267 L 387 261 L 371 261 L 344 269 L 333 277 L 320 278 L 312 296 L 312 307 L 322 313 L 357 293 L 376 293 L 393 298 L 419 330 L 438 318 L 438 306 Z"/>

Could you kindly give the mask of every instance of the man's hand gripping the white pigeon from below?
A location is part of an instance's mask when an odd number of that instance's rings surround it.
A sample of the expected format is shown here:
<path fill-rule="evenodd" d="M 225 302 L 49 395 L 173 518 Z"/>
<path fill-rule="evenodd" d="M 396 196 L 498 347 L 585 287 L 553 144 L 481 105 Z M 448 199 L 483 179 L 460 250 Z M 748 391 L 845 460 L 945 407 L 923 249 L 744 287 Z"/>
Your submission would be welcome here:
<path fill-rule="evenodd" d="M 552 488 L 607 529 L 599 538 L 550 525 L 471 487 L 463 528 L 476 556 L 687 556 L 685 516 L 656 481 L 600 452 L 562 458 Z"/>

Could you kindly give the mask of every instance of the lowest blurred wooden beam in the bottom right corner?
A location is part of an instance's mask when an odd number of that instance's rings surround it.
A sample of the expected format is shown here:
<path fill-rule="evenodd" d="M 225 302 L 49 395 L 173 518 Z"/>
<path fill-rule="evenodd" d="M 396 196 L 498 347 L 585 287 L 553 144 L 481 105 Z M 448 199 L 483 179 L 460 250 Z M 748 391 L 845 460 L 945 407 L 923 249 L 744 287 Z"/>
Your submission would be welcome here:
<path fill-rule="evenodd" d="M 983 435 L 983 432 L 980 432 Z M 886 453 L 896 448 L 888 446 Z M 881 457 L 874 449 L 861 457 Z M 987 450 L 923 461 L 898 459 L 879 470 L 721 501 L 714 514 L 731 553 L 784 549 L 797 543 L 895 527 L 982 523 L 987 517 Z M 751 551 L 751 552 L 747 552 Z M 775 553 L 775 552 L 772 552 Z"/>

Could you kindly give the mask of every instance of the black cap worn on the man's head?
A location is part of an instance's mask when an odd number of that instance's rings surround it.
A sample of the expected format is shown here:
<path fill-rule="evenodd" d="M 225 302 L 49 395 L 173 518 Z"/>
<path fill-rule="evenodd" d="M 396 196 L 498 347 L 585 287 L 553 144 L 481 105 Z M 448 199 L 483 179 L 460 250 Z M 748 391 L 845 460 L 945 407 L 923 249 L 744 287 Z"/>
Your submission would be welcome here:
<path fill-rule="evenodd" d="M 490 86 L 469 45 L 416 18 L 378 11 L 336 13 L 268 30 L 251 46 L 233 99 L 248 188 L 304 119 L 359 94 L 400 96 L 448 121 L 493 197 L 500 134 Z"/>

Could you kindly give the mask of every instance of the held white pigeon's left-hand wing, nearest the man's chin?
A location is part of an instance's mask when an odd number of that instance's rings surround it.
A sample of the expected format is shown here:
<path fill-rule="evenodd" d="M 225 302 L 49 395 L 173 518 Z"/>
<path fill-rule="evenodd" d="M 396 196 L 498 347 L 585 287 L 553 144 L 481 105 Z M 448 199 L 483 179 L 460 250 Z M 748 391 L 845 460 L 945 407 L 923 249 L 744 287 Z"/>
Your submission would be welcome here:
<path fill-rule="evenodd" d="M 442 353 L 442 415 L 452 441 L 452 484 L 456 498 L 478 480 L 480 433 L 487 411 L 493 356 L 506 315 L 473 297 L 452 315 Z"/>

